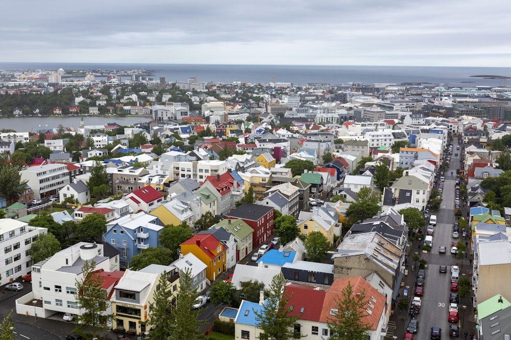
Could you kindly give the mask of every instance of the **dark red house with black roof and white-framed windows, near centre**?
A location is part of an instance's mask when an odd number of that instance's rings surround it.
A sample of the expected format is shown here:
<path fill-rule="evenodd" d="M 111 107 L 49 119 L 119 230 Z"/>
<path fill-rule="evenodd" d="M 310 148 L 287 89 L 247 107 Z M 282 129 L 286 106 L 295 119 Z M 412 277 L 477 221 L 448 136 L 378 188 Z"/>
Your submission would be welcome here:
<path fill-rule="evenodd" d="M 242 219 L 253 230 L 252 248 L 257 249 L 271 240 L 273 235 L 273 208 L 270 206 L 243 203 L 225 215 L 227 219 Z"/>

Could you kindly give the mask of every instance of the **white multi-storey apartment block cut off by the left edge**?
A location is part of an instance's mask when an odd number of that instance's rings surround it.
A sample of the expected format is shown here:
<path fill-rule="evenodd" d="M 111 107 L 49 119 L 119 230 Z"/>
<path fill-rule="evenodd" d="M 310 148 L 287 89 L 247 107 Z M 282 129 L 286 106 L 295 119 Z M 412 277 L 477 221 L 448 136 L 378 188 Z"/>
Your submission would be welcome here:
<path fill-rule="evenodd" d="M 10 218 L 0 220 L 0 245 L 4 249 L 2 251 L 0 248 L 0 285 L 27 275 L 32 270 L 30 246 L 39 234 L 47 231 L 47 228 L 31 227 L 28 223 Z"/>

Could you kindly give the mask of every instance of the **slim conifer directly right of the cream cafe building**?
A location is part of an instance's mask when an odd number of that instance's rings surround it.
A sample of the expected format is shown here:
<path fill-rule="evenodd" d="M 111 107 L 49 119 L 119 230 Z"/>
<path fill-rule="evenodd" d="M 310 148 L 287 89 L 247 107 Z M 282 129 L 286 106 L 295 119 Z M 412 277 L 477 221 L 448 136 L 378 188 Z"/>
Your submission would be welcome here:
<path fill-rule="evenodd" d="M 153 302 L 149 309 L 148 325 L 151 326 L 149 338 L 152 340 L 165 339 L 171 332 L 173 322 L 169 313 L 172 298 L 172 289 L 169 282 L 169 273 L 164 272 L 158 280 L 158 287 L 154 292 Z"/>

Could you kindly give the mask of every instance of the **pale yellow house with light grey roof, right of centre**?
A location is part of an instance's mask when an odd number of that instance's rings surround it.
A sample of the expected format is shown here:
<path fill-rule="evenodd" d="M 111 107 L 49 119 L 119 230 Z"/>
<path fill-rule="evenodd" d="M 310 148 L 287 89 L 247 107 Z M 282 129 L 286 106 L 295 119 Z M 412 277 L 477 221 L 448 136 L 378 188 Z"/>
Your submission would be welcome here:
<path fill-rule="evenodd" d="M 312 231 L 321 232 L 324 237 L 334 244 L 334 227 L 337 219 L 320 207 L 313 207 L 312 212 L 300 212 L 298 215 L 298 228 L 302 235 L 307 236 Z"/>

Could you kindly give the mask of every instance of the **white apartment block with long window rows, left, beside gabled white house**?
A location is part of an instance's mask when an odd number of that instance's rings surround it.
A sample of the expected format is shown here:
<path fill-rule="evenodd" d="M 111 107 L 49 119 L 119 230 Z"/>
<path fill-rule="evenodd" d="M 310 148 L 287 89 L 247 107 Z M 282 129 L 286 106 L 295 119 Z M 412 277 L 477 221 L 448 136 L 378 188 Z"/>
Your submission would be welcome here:
<path fill-rule="evenodd" d="M 69 184 L 69 171 L 65 164 L 45 164 L 21 170 L 21 179 L 28 180 L 35 198 L 57 193 Z"/>

